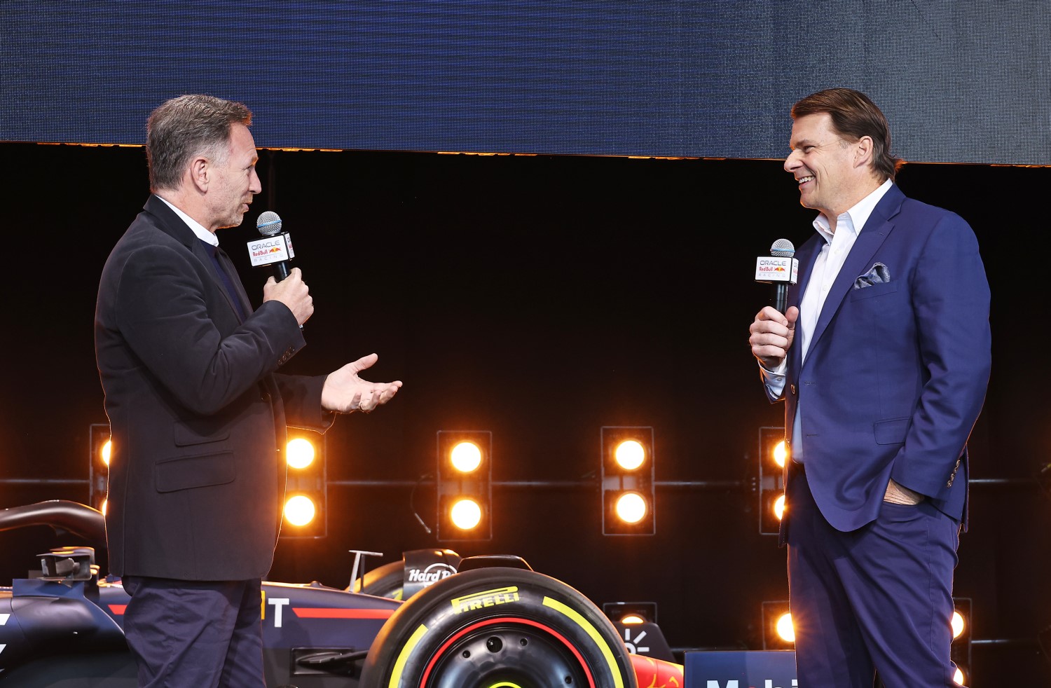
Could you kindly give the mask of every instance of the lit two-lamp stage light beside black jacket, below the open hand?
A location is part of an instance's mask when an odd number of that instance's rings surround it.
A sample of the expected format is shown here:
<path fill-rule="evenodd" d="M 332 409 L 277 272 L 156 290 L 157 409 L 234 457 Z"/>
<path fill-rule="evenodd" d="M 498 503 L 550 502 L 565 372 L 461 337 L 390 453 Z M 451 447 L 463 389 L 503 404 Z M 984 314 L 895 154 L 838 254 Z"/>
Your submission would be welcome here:
<path fill-rule="evenodd" d="M 283 538 L 328 535 L 328 475 L 325 436 L 289 429 L 285 444 L 285 507 Z"/>

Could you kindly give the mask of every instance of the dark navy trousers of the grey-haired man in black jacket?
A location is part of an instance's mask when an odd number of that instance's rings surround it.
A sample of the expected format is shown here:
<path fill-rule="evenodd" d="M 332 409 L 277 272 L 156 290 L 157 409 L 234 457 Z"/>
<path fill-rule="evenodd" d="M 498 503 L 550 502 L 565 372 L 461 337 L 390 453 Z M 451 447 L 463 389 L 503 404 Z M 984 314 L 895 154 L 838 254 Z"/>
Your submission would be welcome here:
<path fill-rule="evenodd" d="M 263 688 L 260 580 L 123 582 L 140 688 Z"/>

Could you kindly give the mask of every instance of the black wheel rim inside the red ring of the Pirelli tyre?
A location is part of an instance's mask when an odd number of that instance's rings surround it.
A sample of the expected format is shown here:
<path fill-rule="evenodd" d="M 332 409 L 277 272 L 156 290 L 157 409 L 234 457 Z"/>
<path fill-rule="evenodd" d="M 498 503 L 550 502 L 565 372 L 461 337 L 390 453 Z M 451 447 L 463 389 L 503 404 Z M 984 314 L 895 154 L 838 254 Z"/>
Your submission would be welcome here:
<path fill-rule="evenodd" d="M 595 688 L 579 650 L 547 624 L 486 619 L 461 629 L 434 653 L 420 688 Z"/>

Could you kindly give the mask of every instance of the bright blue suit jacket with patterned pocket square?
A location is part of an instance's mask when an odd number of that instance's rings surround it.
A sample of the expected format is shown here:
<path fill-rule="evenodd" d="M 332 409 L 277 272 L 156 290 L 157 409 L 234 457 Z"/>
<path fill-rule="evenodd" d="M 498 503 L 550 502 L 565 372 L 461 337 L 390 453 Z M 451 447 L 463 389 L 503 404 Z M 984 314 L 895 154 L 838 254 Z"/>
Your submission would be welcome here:
<path fill-rule="evenodd" d="M 789 306 L 823 243 L 800 248 Z M 889 280 L 854 288 L 875 264 Z M 826 520 L 843 531 L 873 521 L 893 478 L 966 521 L 965 447 L 989 368 L 989 285 L 973 231 L 892 186 L 827 295 L 806 362 L 800 347 L 788 353 L 785 425 L 791 442 L 800 405 L 807 482 Z"/>

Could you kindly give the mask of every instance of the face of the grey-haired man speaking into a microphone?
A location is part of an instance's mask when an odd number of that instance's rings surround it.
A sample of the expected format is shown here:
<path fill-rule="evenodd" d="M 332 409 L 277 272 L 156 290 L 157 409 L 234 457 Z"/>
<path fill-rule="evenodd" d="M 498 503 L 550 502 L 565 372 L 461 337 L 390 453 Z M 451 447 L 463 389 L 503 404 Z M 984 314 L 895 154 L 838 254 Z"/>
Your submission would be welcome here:
<path fill-rule="evenodd" d="M 211 223 L 208 229 L 236 227 L 242 223 L 252 196 L 263 190 L 255 173 L 255 140 L 243 124 L 230 127 L 226 160 L 212 161 L 214 174 L 208 186 L 207 204 Z"/>

